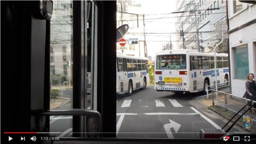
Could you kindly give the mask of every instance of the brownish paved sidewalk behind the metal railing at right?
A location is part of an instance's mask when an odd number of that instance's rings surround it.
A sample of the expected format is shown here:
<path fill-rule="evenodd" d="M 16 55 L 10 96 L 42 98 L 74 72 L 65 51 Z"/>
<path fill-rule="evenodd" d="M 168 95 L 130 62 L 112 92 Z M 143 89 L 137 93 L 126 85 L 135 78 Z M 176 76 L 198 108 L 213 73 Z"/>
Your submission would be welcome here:
<path fill-rule="evenodd" d="M 206 108 L 220 114 L 221 116 L 227 118 L 228 120 L 230 120 L 234 116 L 234 114 L 236 114 L 236 112 L 238 112 L 242 107 L 244 107 L 247 104 L 246 101 L 242 101 L 237 98 L 227 96 L 227 105 L 226 105 L 227 111 L 226 111 L 224 107 L 225 106 L 224 99 L 225 99 L 224 94 L 219 93 L 218 98 L 214 96 L 214 106 L 212 106 L 212 95 L 210 94 L 208 100 L 207 99 L 201 100 L 200 102 L 204 104 Z M 232 124 L 235 120 L 237 120 L 237 118 L 241 116 L 243 112 L 244 110 L 240 111 L 239 114 L 237 114 L 236 117 L 233 118 L 230 124 Z M 256 114 L 248 111 L 244 115 L 252 116 L 253 127 L 248 131 L 256 133 Z M 236 124 L 243 127 L 243 116 L 238 120 L 238 122 L 236 122 Z M 228 126 L 226 128 L 228 128 Z"/>

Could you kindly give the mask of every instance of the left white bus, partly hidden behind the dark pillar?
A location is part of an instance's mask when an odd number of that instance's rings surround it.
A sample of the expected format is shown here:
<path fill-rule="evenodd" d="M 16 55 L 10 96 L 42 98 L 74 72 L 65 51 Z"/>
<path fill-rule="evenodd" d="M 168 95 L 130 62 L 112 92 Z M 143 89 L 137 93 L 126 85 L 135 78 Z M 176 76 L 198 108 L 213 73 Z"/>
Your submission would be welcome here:
<path fill-rule="evenodd" d="M 137 89 L 144 90 L 149 82 L 148 59 L 116 55 L 116 93 L 131 96 Z M 91 73 L 87 73 L 87 93 L 90 94 Z"/>

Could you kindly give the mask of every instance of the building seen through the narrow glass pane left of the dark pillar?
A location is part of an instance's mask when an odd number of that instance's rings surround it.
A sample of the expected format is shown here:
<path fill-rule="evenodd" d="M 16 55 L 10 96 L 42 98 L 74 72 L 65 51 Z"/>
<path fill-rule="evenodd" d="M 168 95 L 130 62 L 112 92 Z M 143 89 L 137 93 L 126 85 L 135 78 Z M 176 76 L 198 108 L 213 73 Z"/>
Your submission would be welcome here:
<path fill-rule="evenodd" d="M 50 78 L 54 85 L 72 85 L 73 75 L 72 1 L 54 1 L 51 19 Z M 70 66 L 67 66 L 70 61 Z M 65 82 L 65 83 L 64 83 Z"/>

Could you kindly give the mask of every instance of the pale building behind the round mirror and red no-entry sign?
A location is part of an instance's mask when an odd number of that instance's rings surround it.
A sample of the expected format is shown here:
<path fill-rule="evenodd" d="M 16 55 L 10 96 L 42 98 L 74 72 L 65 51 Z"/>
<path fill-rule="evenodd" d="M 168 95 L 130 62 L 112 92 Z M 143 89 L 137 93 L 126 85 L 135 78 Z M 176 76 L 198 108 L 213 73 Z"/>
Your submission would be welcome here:
<path fill-rule="evenodd" d="M 147 57 L 144 14 L 141 4 L 136 0 L 118 0 L 116 22 L 117 28 L 123 24 L 129 26 L 128 32 L 123 37 L 126 44 L 122 47 L 116 43 L 117 52 L 122 52 L 124 55 Z"/>

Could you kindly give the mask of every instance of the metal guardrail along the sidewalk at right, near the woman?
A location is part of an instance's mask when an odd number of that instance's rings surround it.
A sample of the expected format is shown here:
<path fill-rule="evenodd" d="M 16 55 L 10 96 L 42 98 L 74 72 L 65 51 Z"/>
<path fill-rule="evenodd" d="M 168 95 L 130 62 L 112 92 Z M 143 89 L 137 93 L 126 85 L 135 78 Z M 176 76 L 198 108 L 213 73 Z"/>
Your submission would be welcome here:
<path fill-rule="evenodd" d="M 224 82 L 226 83 L 226 82 Z M 223 84 L 223 83 L 222 83 Z M 213 85 L 212 85 L 213 86 Z M 229 85 L 225 85 L 225 86 L 222 86 L 222 87 L 226 87 L 226 86 L 229 86 Z M 210 86 L 208 86 L 210 87 Z M 222 88 L 222 87 L 218 87 L 218 88 Z M 214 106 L 215 104 L 218 105 L 218 106 L 221 106 L 223 108 L 225 108 L 225 111 L 227 110 L 230 110 L 230 111 L 233 111 L 233 112 L 236 112 L 235 110 L 232 110 L 230 108 L 228 108 L 228 100 L 227 100 L 227 96 L 230 96 L 231 98 L 236 98 L 237 100 L 240 100 L 242 102 L 248 102 L 248 101 L 251 101 L 250 99 L 247 99 L 247 98 L 242 98 L 242 97 L 239 97 L 239 96 L 236 96 L 234 94 L 229 94 L 229 93 L 226 93 L 226 92 L 222 92 L 222 91 L 219 91 L 219 90 L 216 90 L 215 88 L 214 89 L 208 89 L 207 88 L 207 99 L 209 99 L 209 91 L 211 91 L 211 95 L 212 95 L 212 106 Z M 224 94 L 224 105 L 221 105 L 221 104 L 218 104 L 216 102 L 214 102 L 215 100 L 218 100 L 216 98 L 214 98 L 214 95 L 216 95 L 216 93 L 221 93 L 221 94 Z M 218 100 L 220 101 L 220 100 Z M 222 101 L 220 101 L 222 102 Z M 256 100 L 252 100 L 252 104 L 256 103 Z M 250 106 L 246 106 L 246 107 L 250 107 Z M 256 108 L 252 108 L 254 110 L 256 110 Z M 237 112 L 236 112 L 237 113 Z M 240 114 L 240 113 L 239 113 Z M 240 114 L 241 115 L 241 114 Z M 256 120 L 253 120 L 256 122 Z"/>

